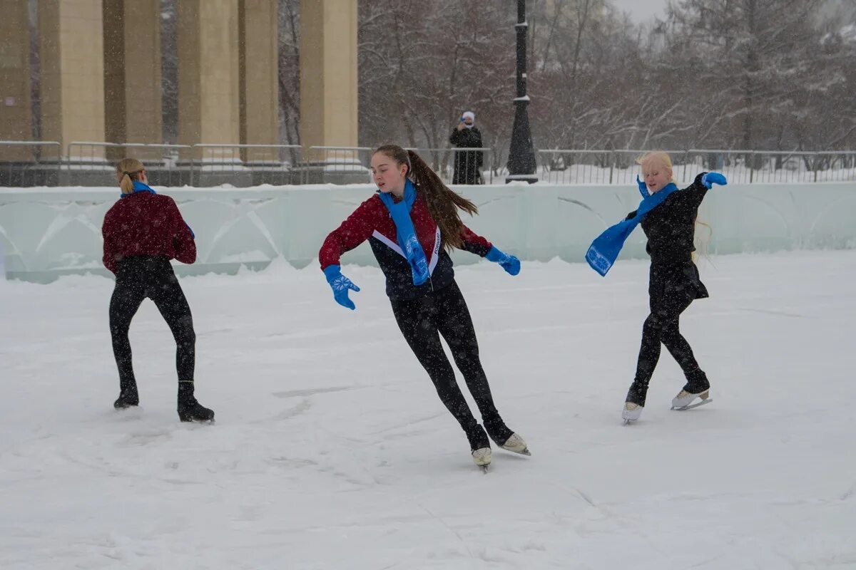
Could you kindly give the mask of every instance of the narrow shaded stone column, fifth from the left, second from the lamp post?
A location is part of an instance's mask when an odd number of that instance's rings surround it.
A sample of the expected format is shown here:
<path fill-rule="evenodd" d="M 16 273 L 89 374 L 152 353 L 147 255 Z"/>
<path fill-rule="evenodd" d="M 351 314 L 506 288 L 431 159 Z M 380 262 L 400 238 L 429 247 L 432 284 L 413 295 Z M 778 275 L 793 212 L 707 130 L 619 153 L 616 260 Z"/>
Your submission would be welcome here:
<path fill-rule="evenodd" d="M 240 0 L 241 143 L 279 143 L 276 0 Z M 249 149 L 245 162 L 279 162 L 277 150 Z"/>

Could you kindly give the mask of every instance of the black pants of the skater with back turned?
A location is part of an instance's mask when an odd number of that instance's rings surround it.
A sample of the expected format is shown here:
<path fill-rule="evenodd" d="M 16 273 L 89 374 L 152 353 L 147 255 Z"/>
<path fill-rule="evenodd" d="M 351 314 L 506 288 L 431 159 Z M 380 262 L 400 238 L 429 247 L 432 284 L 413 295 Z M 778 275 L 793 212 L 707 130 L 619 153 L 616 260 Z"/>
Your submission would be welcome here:
<path fill-rule="evenodd" d="M 110 297 L 110 335 L 113 355 L 119 367 L 119 384 L 123 393 L 136 392 L 134 367 L 128 329 L 143 299 L 150 298 L 158 307 L 175 338 L 175 368 L 180 381 L 193 380 L 196 360 L 196 333 L 190 307 L 166 257 L 134 256 L 119 261 L 116 288 Z"/>

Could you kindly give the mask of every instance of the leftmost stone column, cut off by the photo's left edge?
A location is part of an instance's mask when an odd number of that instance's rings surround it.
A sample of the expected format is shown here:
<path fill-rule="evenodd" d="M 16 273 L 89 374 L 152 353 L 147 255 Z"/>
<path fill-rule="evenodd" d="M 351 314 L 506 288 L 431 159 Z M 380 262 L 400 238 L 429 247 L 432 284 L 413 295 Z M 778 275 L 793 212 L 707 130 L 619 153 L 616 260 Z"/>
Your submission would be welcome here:
<path fill-rule="evenodd" d="M 0 0 L 0 140 L 32 140 L 27 3 Z M 0 145 L 0 162 L 33 159 L 33 147 Z"/>

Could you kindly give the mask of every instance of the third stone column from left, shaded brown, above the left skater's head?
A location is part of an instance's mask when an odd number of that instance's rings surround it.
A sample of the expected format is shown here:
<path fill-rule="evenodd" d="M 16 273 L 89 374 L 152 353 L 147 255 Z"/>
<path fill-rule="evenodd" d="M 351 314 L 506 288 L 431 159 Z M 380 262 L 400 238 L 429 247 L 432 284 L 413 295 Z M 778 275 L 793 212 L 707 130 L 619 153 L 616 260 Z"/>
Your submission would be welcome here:
<path fill-rule="evenodd" d="M 104 109 L 112 143 L 163 142 L 160 0 L 104 2 Z M 125 156 L 120 150 L 118 156 Z M 160 150 L 128 151 L 160 159 Z"/>

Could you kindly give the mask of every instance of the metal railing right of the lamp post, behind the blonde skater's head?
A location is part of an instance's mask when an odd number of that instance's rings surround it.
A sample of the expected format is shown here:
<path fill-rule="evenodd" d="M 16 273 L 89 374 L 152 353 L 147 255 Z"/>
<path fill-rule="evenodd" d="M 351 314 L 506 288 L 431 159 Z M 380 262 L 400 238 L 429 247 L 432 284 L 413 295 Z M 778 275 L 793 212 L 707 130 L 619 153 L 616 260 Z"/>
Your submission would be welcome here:
<path fill-rule="evenodd" d="M 631 184 L 645 150 L 539 150 L 540 178 L 554 184 Z M 675 179 L 704 170 L 739 184 L 856 180 L 856 151 L 666 150 Z"/>

